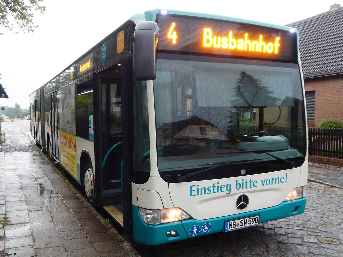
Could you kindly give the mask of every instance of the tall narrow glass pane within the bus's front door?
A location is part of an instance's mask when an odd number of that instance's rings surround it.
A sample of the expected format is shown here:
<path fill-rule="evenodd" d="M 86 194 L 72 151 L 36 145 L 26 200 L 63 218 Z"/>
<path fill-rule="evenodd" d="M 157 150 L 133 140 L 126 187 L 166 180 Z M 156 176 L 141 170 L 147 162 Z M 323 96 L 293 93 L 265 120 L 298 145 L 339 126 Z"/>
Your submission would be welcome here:
<path fill-rule="evenodd" d="M 102 74 L 100 75 L 100 83 L 102 95 L 103 187 L 104 189 L 120 189 L 122 174 L 120 79 L 114 74 Z"/>

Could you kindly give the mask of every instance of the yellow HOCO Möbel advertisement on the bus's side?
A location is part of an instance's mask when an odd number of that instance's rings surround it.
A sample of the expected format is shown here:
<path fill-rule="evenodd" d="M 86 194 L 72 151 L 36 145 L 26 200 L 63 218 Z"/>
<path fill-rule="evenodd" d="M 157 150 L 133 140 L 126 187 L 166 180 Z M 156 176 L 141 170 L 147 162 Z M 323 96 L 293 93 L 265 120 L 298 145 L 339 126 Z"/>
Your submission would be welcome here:
<path fill-rule="evenodd" d="M 78 179 L 76 136 L 60 131 L 60 162 L 64 169 Z"/>

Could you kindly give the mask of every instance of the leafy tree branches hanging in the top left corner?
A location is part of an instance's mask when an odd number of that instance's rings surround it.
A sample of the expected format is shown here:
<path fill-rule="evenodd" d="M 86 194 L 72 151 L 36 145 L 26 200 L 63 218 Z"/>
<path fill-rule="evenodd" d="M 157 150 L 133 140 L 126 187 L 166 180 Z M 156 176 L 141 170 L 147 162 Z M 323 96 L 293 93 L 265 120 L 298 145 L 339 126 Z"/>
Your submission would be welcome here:
<path fill-rule="evenodd" d="M 33 23 L 32 9 L 42 14 L 45 12 L 45 6 L 40 2 L 43 0 L 0 0 L 0 26 L 14 33 L 19 32 L 18 28 L 24 33 L 34 32 L 38 25 Z"/>

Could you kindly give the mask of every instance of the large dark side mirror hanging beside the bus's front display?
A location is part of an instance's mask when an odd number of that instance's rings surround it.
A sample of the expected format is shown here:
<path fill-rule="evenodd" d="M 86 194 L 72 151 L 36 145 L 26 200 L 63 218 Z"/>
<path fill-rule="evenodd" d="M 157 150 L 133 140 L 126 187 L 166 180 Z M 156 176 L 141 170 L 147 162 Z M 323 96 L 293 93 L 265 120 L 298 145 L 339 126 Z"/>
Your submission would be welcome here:
<path fill-rule="evenodd" d="M 156 78 L 156 47 L 158 26 L 156 22 L 139 22 L 134 29 L 133 75 L 136 80 Z"/>

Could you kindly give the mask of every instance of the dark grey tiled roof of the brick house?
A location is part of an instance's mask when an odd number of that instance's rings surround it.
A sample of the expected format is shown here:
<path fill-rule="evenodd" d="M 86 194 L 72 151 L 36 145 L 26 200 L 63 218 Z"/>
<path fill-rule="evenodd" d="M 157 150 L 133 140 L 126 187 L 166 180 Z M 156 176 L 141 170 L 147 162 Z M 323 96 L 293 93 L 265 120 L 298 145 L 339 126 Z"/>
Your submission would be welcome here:
<path fill-rule="evenodd" d="M 343 7 L 286 26 L 299 31 L 304 78 L 343 73 Z"/>

